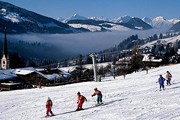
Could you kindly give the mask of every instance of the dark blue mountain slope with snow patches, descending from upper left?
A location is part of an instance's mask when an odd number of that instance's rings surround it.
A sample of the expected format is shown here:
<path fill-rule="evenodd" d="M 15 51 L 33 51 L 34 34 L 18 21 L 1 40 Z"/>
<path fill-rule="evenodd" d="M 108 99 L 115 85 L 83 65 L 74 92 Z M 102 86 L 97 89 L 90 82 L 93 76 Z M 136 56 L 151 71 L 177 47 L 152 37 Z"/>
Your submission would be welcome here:
<path fill-rule="evenodd" d="M 81 29 L 70 27 L 55 19 L 0 1 L 0 32 L 8 33 L 74 33 Z M 87 31 L 87 30 L 86 30 Z"/>

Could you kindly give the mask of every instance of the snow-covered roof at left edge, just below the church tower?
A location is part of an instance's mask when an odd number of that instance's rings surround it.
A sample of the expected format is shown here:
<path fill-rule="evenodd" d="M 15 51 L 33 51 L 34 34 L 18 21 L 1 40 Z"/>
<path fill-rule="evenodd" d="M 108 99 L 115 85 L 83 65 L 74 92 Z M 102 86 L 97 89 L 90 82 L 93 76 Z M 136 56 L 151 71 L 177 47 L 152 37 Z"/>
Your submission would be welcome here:
<path fill-rule="evenodd" d="M 13 70 L 0 70 L 0 80 L 7 80 L 16 78 L 17 75 L 13 73 Z"/>

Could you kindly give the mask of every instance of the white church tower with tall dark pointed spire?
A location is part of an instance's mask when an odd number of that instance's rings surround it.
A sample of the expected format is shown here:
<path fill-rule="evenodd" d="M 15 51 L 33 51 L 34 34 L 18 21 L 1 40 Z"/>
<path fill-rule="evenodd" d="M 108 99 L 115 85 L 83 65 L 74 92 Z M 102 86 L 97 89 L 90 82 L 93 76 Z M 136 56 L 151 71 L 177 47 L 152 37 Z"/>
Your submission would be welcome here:
<path fill-rule="evenodd" d="M 1 59 L 1 69 L 9 69 L 9 55 L 7 48 L 7 38 L 6 38 L 6 29 L 4 31 L 4 46 L 2 51 L 2 59 Z"/>

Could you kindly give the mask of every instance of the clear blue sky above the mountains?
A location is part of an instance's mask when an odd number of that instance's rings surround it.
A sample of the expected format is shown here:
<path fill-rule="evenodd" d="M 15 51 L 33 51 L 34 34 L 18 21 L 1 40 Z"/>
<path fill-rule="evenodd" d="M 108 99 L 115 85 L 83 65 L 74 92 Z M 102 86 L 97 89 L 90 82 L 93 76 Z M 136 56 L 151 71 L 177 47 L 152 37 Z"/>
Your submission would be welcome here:
<path fill-rule="evenodd" d="M 114 18 L 124 15 L 180 18 L 180 0 L 2 0 L 52 18 L 74 14 Z"/>

